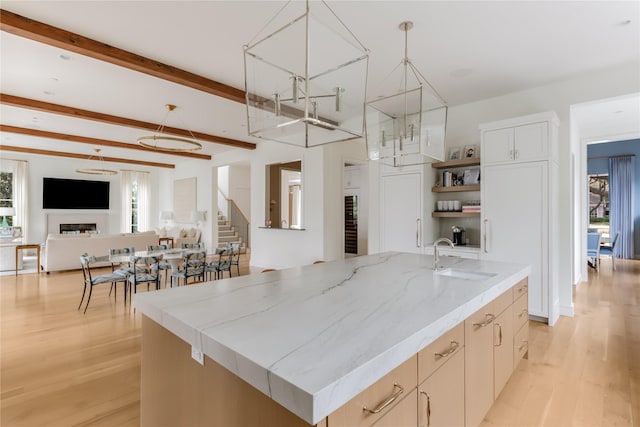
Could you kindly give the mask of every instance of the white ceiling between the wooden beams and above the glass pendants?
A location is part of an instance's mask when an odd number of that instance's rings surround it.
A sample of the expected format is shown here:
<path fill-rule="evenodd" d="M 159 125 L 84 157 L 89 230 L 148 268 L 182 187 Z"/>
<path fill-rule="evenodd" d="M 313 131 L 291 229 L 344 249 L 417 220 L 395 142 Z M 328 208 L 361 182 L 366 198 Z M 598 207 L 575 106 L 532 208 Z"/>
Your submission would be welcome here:
<path fill-rule="evenodd" d="M 242 46 L 284 1 L 2 1 L 2 8 L 244 89 Z M 451 106 L 640 63 L 637 1 L 330 1 L 371 51 L 368 97 L 388 93 L 414 22 L 409 57 Z M 625 24 L 625 22 L 630 21 Z M 59 48 L 0 33 L 1 91 L 226 138 L 247 136 L 242 104 Z M 63 60 L 60 55 L 70 59 Z M 387 89 L 387 90 L 385 90 Z M 610 105 L 608 109 L 615 108 Z M 637 109 L 635 110 L 637 112 Z M 598 114 L 597 112 L 594 114 Z M 135 143 L 137 129 L 0 106 L 4 125 Z M 620 116 L 620 114 L 618 114 Z M 619 117 L 614 117 L 615 120 Z M 3 133 L 2 144 L 76 153 L 92 145 Z M 203 143 L 204 153 L 230 149 Z M 177 164 L 165 154 L 103 147 L 105 157 Z"/>

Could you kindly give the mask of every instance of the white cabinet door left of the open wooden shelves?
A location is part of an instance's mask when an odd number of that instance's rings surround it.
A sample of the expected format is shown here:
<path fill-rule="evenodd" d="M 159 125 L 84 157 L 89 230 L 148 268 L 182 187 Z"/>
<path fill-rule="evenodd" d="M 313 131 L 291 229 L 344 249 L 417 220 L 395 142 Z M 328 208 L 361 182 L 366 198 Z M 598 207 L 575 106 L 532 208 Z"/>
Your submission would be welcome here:
<path fill-rule="evenodd" d="M 422 251 L 422 170 L 380 179 L 381 251 Z"/>

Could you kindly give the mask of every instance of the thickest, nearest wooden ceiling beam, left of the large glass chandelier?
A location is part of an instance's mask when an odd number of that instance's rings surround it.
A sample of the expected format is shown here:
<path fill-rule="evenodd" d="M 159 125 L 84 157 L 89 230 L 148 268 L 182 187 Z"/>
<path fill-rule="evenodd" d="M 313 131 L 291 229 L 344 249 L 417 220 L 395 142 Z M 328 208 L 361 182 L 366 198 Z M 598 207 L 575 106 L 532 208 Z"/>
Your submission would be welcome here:
<path fill-rule="evenodd" d="M 0 29 L 20 37 L 169 80 L 212 95 L 245 103 L 245 92 L 224 83 L 163 64 L 106 43 L 0 9 Z"/>

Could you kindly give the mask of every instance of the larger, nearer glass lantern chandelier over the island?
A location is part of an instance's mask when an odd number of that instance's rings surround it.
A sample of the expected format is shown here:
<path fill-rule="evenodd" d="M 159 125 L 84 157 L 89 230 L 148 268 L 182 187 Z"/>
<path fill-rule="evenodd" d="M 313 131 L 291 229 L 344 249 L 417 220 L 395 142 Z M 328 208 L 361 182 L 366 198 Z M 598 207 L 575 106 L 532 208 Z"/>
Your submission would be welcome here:
<path fill-rule="evenodd" d="M 326 2 L 287 2 L 243 49 L 250 136 L 305 148 L 363 136 L 369 51 Z"/>

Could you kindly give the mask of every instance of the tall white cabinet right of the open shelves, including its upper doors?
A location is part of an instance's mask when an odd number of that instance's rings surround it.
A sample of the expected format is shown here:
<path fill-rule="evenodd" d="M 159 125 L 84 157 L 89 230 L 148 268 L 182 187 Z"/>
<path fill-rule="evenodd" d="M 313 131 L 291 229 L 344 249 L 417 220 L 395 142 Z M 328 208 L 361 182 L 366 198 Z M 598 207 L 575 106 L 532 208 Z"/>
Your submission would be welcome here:
<path fill-rule="evenodd" d="M 558 117 L 545 112 L 480 125 L 481 257 L 531 265 L 529 317 L 555 324 Z"/>

